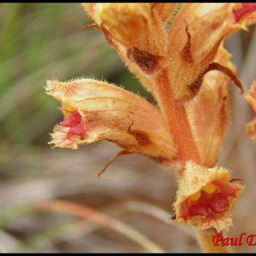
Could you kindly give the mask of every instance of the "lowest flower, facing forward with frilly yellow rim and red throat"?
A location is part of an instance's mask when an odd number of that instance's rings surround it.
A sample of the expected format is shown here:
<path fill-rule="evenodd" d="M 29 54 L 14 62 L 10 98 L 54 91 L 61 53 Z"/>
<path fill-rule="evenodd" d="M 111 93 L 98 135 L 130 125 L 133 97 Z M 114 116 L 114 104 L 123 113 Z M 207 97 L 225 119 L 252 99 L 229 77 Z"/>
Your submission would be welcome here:
<path fill-rule="evenodd" d="M 202 230 L 228 230 L 232 225 L 230 210 L 243 189 L 230 182 L 230 174 L 225 168 L 204 168 L 188 162 L 174 204 L 176 219 L 194 223 Z"/>

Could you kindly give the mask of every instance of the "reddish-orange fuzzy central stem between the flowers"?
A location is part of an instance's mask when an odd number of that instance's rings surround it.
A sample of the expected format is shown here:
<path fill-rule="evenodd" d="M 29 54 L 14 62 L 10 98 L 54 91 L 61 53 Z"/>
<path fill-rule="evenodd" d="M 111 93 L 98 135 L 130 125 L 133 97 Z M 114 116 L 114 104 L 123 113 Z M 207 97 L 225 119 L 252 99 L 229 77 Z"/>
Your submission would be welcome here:
<path fill-rule="evenodd" d="M 156 84 L 159 99 L 161 99 L 161 109 L 167 118 L 170 132 L 177 148 L 177 155 L 179 157 L 177 160 L 183 163 L 182 168 L 179 170 L 180 175 L 182 175 L 186 161 L 192 160 L 202 165 L 200 155 L 191 132 L 186 110 L 182 104 L 173 99 L 170 90 L 172 87 L 170 86 L 166 69 L 159 73 L 156 78 Z M 227 248 L 227 246 L 214 246 L 212 244 L 213 235 L 212 231 L 198 230 L 197 240 L 202 251 L 205 253 L 230 252 L 230 248 Z"/>

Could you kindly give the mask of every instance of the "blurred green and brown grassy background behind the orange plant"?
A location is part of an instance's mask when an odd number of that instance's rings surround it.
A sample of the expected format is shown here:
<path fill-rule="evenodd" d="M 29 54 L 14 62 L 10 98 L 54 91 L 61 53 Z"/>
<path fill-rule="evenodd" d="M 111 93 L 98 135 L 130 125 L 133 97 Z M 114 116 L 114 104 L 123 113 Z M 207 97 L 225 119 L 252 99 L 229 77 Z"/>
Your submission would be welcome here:
<path fill-rule="evenodd" d="M 59 103 L 44 92 L 47 79 L 106 79 L 153 100 L 99 31 L 81 29 L 88 22 L 78 3 L 0 4 L 0 250 L 198 252 L 192 228 L 168 220 L 175 175 L 146 157 L 127 156 L 97 179 L 97 171 L 117 152 L 115 145 L 102 142 L 75 151 L 47 145 L 62 118 Z M 237 33 L 226 45 L 248 89 L 256 77 L 254 29 Z M 220 164 L 247 180 L 231 230 L 238 236 L 256 231 L 256 163 L 255 145 L 244 133 L 252 110 L 236 89 L 231 93 L 234 108 Z M 115 217 L 121 223 L 116 227 L 126 233 L 31 207 L 56 198 Z M 248 246 L 236 251 L 256 252 Z"/>

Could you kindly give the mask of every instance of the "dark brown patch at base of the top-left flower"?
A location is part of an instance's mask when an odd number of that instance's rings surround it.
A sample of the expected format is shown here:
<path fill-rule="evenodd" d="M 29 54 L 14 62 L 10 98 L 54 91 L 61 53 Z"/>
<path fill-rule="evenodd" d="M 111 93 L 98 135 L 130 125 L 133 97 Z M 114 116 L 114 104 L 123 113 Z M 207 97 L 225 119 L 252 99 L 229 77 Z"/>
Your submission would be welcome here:
<path fill-rule="evenodd" d="M 127 57 L 134 61 L 141 68 L 141 70 L 147 74 L 152 74 L 163 58 L 162 56 L 156 56 L 150 54 L 149 52 L 139 50 L 136 47 L 128 49 Z"/>

